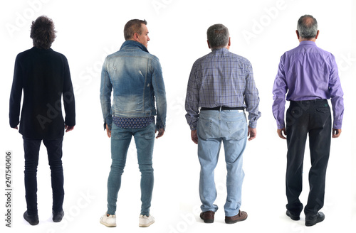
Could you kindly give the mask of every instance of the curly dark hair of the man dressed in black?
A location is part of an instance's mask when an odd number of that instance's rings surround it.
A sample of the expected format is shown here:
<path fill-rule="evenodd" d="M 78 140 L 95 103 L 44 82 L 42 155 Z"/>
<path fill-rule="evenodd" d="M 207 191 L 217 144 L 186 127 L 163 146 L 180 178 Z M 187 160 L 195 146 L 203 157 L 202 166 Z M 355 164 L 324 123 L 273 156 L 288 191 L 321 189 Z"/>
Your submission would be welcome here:
<path fill-rule="evenodd" d="M 47 16 L 39 16 L 36 21 L 32 21 L 30 37 L 33 40 L 33 46 L 36 48 L 50 48 L 56 38 L 52 19 Z"/>

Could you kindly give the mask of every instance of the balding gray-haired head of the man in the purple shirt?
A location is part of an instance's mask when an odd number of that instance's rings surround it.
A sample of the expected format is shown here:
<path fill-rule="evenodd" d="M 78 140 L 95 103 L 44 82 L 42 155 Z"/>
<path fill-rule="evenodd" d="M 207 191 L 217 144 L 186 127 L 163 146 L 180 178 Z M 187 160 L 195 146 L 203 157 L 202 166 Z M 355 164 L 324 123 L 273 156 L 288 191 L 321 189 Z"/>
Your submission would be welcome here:
<path fill-rule="evenodd" d="M 318 33 L 318 22 L 313 16 L 301 16 L 298 20 L 297 30 L 299 32 L 300 38 L 315 38 L 316 33 Z"/>

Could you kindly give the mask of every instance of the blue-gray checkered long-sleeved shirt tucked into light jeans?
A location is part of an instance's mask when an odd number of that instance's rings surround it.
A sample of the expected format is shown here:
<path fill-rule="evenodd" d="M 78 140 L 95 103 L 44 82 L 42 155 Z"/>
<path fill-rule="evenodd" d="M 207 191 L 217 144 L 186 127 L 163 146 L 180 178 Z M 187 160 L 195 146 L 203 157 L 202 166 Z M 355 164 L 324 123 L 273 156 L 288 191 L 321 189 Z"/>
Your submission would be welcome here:
<path fill-rule="evenodd" d="M 199 107 L 244 107 L 249 126 L 256 128 L 258 90 L 251 63 L 227 48 L 212 50 L 199 58 L 190 72 L 185 109 L 190 129 L 197 129 Z"/>

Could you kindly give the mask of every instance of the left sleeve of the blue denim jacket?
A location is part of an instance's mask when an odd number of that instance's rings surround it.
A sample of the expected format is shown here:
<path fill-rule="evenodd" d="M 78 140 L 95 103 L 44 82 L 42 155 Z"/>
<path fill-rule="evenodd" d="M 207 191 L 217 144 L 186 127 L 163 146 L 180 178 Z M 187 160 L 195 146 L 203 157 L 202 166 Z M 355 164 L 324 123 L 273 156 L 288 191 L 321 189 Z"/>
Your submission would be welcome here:
<path fill-rule="evenodd" d="M 112 84 L 110 81 L 106 63 L 107 63 L 107 60 L 105 59 L 103 69 L 101 71 L 100 103 L 101 103 L 101 110 L 103 112 L 103 117 L 104 117 L 104 129 L 106 129 L 106 124 L 108 124 L 109 129 L 111 129 L 111 125 L 112 125 L 112 114 L 111 114 Z"/>

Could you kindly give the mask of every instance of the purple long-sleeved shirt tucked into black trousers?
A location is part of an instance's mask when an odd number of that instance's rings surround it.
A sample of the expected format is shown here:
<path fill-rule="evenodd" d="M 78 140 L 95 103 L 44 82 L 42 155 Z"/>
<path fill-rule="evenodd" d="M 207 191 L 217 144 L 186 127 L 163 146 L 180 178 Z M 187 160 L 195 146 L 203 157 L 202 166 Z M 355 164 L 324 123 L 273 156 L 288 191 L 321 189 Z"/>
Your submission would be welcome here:
<path fill-rule="evenodd" d="M 287 97 L 286 97 L 287 94 Z M 334 129 L 341 129 L 344 113 L 343 92 L 333 54 L 318 48 L 315 42 L 301 41 L 297 48 L 281 57 L 273 85 L 273 115 L 278 129 L 285 128 L 286 100 L 330 99 Z"/>

